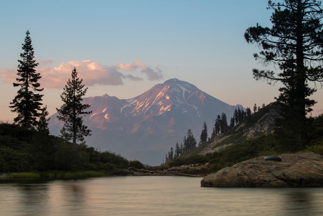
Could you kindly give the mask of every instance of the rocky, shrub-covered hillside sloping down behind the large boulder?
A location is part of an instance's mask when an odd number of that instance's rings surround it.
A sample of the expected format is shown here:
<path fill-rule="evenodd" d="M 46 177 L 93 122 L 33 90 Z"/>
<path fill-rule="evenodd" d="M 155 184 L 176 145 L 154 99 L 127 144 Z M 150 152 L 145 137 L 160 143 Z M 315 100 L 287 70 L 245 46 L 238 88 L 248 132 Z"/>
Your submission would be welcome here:
<path fill-rule="evenodd" d="M 280 114 L 280 105 L 276 102 L 270 103 L 228 132 L 187 154 L 182 154 L 167 165 L 170 167 L 194 165 L 192 169 L 182 170 L 182 173 L 205 174 L 259 156 L 299 151 L 313 151 L 323 155 L 323 114 L 308 119 L 307 129 L 310 138 L 308 143 L 300 143 L 297 137 L 288 137 L 290 132 L 280 131 L 276 126 L 277 120 L 284 121 Z M 194 168 L 196 164 L 203 168 L 196 170 Z"/>

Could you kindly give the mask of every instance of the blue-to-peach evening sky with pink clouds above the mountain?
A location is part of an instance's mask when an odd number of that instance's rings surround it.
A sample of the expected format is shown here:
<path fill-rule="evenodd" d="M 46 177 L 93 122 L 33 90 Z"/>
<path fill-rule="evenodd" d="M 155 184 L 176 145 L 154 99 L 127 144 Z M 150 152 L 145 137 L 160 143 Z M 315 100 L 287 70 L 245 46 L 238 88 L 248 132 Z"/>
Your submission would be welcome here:
<path fill-rule="evenodd" d="M 19 87 L 18 59 L 29 30 L 42 103 L 49 115 L 76 67 L 85 97 L 130 99 L 172 78 L 194 84 L 230 105 L 274 102 L 277 83 L 256 81 L 264 69 L 245 41 L 248 27 L 271 27 L 266 0 L 56 0 L 4 1 L 0 7 L 0 120 L 13 122 L 10 102 Z M 272 67 L 272 66 L 271 66 Z M 273 68 L 276 70 L 275 68 Z M 279 72 L 277 70 L 277 72 Z M 312 116 L 323 113 L 323 90 Z"/>

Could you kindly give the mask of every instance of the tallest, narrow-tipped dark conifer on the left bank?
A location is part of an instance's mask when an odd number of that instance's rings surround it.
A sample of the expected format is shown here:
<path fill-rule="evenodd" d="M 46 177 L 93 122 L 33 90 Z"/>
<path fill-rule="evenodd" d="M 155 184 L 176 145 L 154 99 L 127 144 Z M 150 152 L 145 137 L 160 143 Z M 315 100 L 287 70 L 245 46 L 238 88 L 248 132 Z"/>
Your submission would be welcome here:
<path fill-rule="evenodd" d="M 17 75 L 20 78 L 16 78 L 18 83 L 13 83 L 14 87 L 20 86 L 20 89 L 10 103 L 13 105 L 9 106 L 12 108 L 11 112 L 18 113 L 18 116 L 14 119 L 15 123 L 27 128 L 37 125 L 37 117 L 41 115 L 40 111 L 42 111 L 40 106 L 43 105 L 41 103 L 43 95 L 36 93 L 43 91 L 43 89 L 39 88 L 38 80 L 41 76 L 35 70 L 38 63 L 34 60 L 34 48 L 29 34 L 27 30 L 25 43 L 22 44 L 24 52 L 20 53 L 22 59 L 18 60 Z"/>

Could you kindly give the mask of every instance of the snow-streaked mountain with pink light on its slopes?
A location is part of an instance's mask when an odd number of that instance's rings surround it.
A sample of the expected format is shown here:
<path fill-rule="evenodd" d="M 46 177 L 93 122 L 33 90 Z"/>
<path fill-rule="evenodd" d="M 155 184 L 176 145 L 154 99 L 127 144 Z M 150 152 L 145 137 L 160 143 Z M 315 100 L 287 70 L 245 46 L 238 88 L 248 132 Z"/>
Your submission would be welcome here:
<path fill-rule="evenodd" d="M 203 123 L 212 133 L 218 114 L 227 118 L 232 106 L 199 90 L 193 84 L 170 79 L 131 99 L 119 99 L 104 94 L 88 97 L 92 113 L 83 118 L 92 130 L 86 138 L 87 145 L 120 153 L 127 159 L 137 159 L 150 165 L 160 165 L 171 146 L 179 144 L 191 129 L 199 141 Z M 58 135 L 62 123 L 56 118 L 49 120 L 51 134 Z"/>

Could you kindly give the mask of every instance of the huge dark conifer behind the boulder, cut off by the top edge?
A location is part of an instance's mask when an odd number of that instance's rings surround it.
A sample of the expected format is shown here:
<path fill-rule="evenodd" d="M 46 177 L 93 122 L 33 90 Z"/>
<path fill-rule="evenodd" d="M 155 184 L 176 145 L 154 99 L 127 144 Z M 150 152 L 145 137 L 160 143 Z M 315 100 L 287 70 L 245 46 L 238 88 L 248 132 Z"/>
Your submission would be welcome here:
<path fill-rule="evenodd" d="M 282 71 L 253 69 L 256 80 L 266 80 L 268 84 L 281 81 L 284 87 L 276 98 L 284 104 L 283 124 L 286 132 L 294 132 L 294 137 L 307 140 L 306 114 L 316 102 L 308 97 L 316 91 L 316 83 L 323 82 L 323 10 L 321 2 L 315 0 L 285 0 L 282 3 L 268 1 L 273 10 L 271 28 L 249 27 L 245 32 L 248 43 L 262 48 L 255 59 L 264 65 L 273 63 Z M 313 81 L 315 88 L 308 86 Z M 290 127 L 291 126 L 291 127 Z"/>

